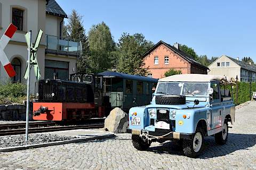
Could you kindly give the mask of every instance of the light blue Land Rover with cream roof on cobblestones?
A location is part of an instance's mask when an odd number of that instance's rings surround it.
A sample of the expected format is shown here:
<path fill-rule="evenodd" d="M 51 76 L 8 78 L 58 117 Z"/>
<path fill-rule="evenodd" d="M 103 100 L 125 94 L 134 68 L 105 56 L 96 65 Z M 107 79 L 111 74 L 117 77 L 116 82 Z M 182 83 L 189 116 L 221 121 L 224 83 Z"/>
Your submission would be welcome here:
<path fill-rule="evenodd" d="M 129 111 L 133 146 L 146 150 L 151 142 L 178 140 L 186 156 L 197 157 L 207 136 L 224 145 L 228 122 L 235 121 L 233 85 L 234 79 L 204 74 L 159 79 L 151 104 Z"/>

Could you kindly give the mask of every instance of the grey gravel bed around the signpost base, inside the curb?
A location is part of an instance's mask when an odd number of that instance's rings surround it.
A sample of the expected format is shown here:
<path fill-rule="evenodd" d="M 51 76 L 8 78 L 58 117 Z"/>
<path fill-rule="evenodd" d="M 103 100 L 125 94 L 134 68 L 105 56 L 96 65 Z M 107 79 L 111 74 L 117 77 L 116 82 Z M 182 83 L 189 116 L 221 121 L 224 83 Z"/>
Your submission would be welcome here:
<path fill-rule="evenodd" d="M 44 134 L 44 133 L 39 134 L 38 133 L 38 134 L 29 134 L 28 139 L 29 140 L 26 142 L 24 134 L 0 137 L 0 148 L 71 140 L 71 139 L 76 139 L 76 137 L 67 137 L 67 136 L 57 135 L 57 134 Z"/>

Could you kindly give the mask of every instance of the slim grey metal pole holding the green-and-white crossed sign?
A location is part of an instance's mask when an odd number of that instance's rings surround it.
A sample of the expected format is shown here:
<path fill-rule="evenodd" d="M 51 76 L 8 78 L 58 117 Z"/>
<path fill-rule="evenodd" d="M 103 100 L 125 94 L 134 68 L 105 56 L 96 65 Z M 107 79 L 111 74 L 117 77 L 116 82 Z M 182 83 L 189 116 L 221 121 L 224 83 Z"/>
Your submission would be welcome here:
<path fill-rule="evenodd" d="M 26 141 L 28 141 L 28 120 L 29 120 L 29 83 L 30 83 L 30 52 L 31 52 L 31 30 L 29 31 L 29 47 L 28 47 L 28 79 L 27 79 L 27 111 L 26 111 Z"/>

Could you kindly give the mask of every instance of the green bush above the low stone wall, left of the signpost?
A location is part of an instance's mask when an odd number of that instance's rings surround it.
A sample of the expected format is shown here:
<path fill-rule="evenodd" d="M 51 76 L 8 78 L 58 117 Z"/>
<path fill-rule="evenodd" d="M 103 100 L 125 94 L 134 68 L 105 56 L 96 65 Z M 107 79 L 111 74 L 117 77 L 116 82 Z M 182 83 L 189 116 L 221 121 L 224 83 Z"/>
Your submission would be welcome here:
<path fill-rule="evenodd" d="M 21 83 L 6 83 L 0 85 L 0 104 L 22 103 L 26 100 L 27 86 Z"/>

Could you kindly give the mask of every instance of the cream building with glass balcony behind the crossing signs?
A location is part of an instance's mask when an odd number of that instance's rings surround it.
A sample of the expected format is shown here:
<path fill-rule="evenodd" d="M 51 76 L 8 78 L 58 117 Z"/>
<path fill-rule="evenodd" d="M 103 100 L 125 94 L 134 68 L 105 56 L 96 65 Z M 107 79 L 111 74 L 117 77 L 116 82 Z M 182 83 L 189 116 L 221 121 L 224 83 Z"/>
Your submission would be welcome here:
<path fill-rule="evenodd" d="M 35 42 L 39 29 L 44 31 L 38 47 L 37 60 L 41 79 L 69 79 L 69 74 L 76 72 L 79 56 L 79 43 L 62 39 L 63 19 L 67 14 L 55 0 L 0 0 L 0 36 L 13 23 L 18 27 L 4 52 L 12 63 L 17 75 L 9 79 L 4 67 L 0 66 L 1 83 L 6 81 L 26 83 L 23 75 L 28 58 L 25 34 L 32 30 L 32 42 Z M 31 92 L 34 92 L 35 75 L 31 70 Z"/>

